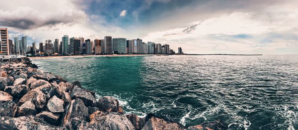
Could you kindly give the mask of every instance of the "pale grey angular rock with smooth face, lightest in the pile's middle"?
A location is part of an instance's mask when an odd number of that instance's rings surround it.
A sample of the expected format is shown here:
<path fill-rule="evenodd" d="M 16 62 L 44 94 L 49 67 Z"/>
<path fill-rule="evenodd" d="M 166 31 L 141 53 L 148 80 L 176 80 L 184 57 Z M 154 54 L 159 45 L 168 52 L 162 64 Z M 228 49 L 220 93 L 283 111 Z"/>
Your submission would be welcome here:
<path fill-rule="evenodd" d="M 48 109 L 53 112 L 64 112 L 63 109 L 64 102 L 62 99 L 59 99 L 56 95 L 54 95 L 47 104 Z"/>

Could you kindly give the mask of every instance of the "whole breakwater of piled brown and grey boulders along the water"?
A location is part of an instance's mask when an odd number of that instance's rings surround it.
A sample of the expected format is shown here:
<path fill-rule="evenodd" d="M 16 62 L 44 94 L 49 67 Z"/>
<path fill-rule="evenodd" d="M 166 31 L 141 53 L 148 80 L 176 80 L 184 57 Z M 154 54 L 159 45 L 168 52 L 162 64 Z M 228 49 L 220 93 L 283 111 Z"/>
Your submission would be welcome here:
<path fill-rule="evenodd" d="M 184 128 L 148 114 L 125 114 L 118 100 L 37 70 L 30 59 L 0 64 L 0 130 L 226 130 L 220 122 Z"/>

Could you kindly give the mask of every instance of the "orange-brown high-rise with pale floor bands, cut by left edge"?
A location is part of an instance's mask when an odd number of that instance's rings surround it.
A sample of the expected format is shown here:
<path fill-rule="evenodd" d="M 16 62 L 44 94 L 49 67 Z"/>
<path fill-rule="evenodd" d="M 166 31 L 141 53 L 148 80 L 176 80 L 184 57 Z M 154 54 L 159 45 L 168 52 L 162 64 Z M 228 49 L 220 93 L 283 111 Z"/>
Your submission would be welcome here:
<path fill-rule="evenodd" d="M 5 29 L 0 29 L 0 52 L 3 55 L 9 55 L 9 43 L 8 43 L 8 30 L 7 28 Z"/>

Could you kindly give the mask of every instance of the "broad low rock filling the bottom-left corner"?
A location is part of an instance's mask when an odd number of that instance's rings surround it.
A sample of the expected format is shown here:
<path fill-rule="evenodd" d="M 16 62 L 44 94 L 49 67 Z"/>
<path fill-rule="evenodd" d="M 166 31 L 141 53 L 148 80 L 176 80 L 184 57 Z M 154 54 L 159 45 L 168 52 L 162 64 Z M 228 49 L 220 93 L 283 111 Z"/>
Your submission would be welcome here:
<path fill-rule="evenodd" d="M 48 124 L 32 115 L 18 118 L 0 117 L 0 130 L 67 130 Z"/>

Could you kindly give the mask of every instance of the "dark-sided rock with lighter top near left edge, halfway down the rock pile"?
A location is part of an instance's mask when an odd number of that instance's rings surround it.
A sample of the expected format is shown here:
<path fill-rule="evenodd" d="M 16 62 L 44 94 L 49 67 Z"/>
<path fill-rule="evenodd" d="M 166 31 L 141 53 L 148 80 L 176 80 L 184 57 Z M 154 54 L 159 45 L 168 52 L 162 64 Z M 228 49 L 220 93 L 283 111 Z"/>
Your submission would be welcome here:
<path fill-rule="evenodd" d="M 12 95 L 14 98 L 19 99 L 23 95 L 25 95 L 30 88 L 26 85 L 19 85 L 19 86 L 6 86 L 4 91 Z"/>

